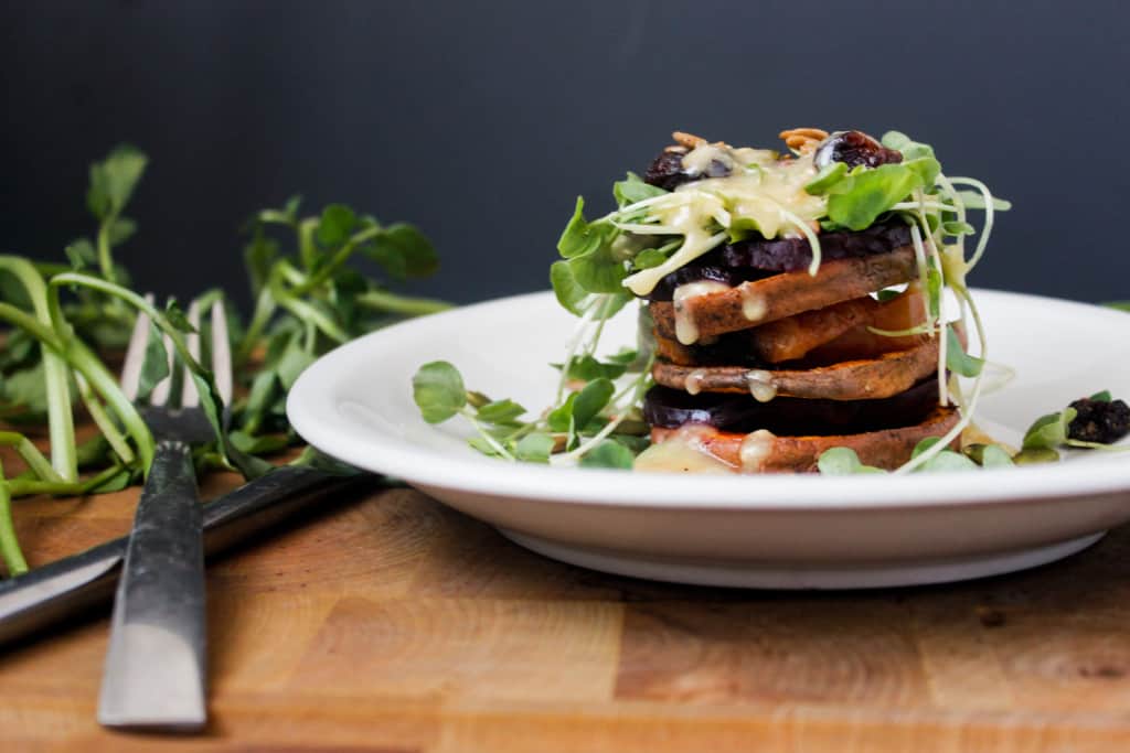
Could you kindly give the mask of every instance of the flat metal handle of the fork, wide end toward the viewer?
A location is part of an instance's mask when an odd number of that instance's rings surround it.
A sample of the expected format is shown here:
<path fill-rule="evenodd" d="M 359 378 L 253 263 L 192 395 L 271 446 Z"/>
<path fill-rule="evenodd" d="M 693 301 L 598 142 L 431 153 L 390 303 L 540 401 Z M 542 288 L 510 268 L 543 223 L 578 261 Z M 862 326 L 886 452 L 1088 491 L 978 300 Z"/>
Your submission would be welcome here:
<path fill-rule="evenodd" d="M 192 730 L 207 720 L 201 522 L 189 446 L 159 441 L 114 602 L 103 725 Z"/>

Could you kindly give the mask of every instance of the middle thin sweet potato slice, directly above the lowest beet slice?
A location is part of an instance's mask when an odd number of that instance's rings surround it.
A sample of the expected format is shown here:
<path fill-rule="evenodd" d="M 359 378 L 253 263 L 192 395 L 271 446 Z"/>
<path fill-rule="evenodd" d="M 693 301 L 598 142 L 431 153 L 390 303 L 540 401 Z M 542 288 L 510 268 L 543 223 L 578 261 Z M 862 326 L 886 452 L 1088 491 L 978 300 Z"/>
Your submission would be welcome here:
<path fill-rule="evenodd" d="M 938 342 L 922 338 L 914 348 L 878 358 L 812 369 L 749 369 L 741 366 L 692 367 L 658 360 L 651 374 L 664 387 L 698 392 L 751 392 L 758 400 L 822 397 L 867 400 L 910 389 L 938 368 Z"/>

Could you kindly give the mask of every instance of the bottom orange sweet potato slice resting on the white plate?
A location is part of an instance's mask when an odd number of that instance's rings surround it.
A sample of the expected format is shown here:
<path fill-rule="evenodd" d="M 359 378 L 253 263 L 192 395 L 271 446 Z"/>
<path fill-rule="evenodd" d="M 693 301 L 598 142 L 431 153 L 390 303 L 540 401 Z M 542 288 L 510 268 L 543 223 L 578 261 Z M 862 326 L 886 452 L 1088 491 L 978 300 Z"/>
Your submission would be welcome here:
<path fill-rule="evenodd" d="M 768 431 L 746 435 L 694 424 L 690 444 L 740 473 L 815 473 L 820 455 L 833 447 L 849 447 L 864 465 L 889 471 L 909 461 L 918 443 L 927 437 L 942 436 L 959 418 L 957 409 L 939 405 L 914 426 L 827 437 L 779 437 Z M 686 427 L 653 428 L 651 440 L 654 444 L 680 441 L 679 432 L 685 431 Z"/>

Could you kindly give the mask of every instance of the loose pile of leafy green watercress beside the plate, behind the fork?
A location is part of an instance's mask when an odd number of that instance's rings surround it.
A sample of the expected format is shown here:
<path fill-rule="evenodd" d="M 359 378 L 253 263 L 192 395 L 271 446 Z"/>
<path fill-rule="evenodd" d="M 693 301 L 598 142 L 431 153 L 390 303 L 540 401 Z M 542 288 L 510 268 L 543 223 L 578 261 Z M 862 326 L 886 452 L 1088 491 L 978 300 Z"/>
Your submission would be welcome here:
<path fill-rule="evenodd" d="M 0 466 L 0 557 L 11 575 L 27 569 L 11 520 L 14 498 L 120 490 L 149 470 L 153 436 L 107 366 L 107 359 L 121 357 L 138 310 L 149 315 L 155 335 L 172 342 L 177 368 L 188 367 L 212 422 L 216 440 L 195 450 L 198 469 L 227 469 L 250 479 L 272 467 L 264 457 L 299 444 L 286 420 L 286 393 L 315 358 L 374 327 L 446 308 L 399 296 L 350 265 L 360 254 L 391 280 L 431 273 L 435 251 L 411 225 L 382 225 L 342 204 L 304 217 L 297 198 L 260 211 L 245 252 L 254 314 L 244 327 L 235 307 L 226 307 L 235 376 L 245 389 L 223 405 L 215 375 L 185 347 L 193 329 L 181 306 L 175 300 L 157 306 L 130 289 L 128 271 L 114 260 L 114 249 L 137 230 L 124 211 L 146 165 L 146 156 L 130 147 L 92 165 L 87 208 L 97 229 L 94 239 L 68 246 L 70 266 L 0 256 L 0 323 L 10 327 L 0 349 L 0 428 L 8 429 L 0 430 L 0 445 L 25 465 L 16 475 Z M 223 297 L 217 289 L 197 300 L 207 310 Z M 150 336 L 142 395 L 169 374 L 168 361 L 162 339 Z M 98 432 L 78 441 L 76 422 L 86 419 Z M 43 424 L 50 458 L 27 437 Z M 315 458 L 307 453 L 296 462 Z"/>

